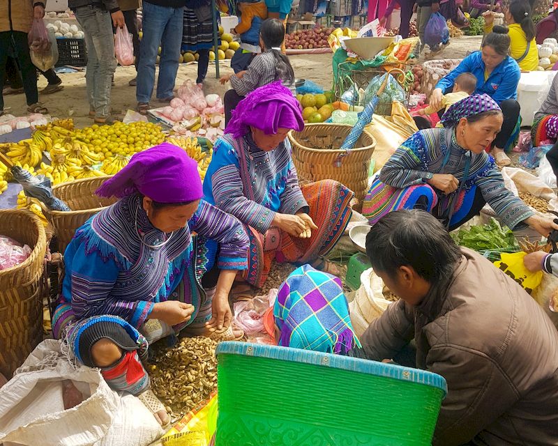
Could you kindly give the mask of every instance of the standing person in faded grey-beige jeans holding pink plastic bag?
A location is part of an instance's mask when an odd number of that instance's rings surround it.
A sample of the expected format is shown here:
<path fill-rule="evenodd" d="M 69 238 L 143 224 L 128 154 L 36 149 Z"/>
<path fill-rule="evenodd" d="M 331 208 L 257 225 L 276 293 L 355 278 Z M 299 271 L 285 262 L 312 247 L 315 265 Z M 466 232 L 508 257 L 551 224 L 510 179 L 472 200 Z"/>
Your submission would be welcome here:
<path fill-rule="evenodd" d="M 89 116 L 98 124 L 112 123 L 110 89 L 116 70 L 112 24 L 123 27 L 124 16 L 116 0 L 70 0 L 68 6 L 85 33 Z"/>

